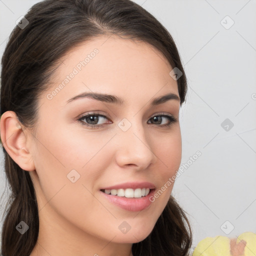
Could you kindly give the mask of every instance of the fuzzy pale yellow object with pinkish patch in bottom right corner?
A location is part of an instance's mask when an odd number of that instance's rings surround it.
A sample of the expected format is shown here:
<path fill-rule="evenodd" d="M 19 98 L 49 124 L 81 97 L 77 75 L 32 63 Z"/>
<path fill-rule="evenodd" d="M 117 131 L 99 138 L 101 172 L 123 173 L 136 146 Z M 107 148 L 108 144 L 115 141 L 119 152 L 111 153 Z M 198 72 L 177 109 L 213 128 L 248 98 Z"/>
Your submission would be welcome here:
<path fill-rule="evenodd" d="M 242 240 L 246 242 L 245 246 Z M 240 245 L 237 245 L 238 243 Z M 255 233 L 241 233 L 236 239 L 236 244 L 232 243 L 232 252 L 230 251 L 230 244 L 230 239 L 226 236 L 206 237 L 198 242 L 192 256 L 256 256 Z"/>

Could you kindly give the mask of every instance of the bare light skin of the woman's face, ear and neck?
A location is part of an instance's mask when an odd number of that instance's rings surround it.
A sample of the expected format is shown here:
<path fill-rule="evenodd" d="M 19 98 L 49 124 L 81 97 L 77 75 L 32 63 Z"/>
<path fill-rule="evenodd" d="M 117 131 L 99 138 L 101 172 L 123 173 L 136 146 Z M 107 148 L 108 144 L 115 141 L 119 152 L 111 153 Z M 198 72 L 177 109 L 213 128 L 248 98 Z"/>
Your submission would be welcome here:
<path fill-rule="evenodd" d="M 47 98 L 84 55 L 99 52 L 52 99 Z M 149 102 L 172 92 L 177 82 L 160 51 L 145 42 L 111 35 L 72 48 L 39 98 L 34 129 L 24 128 L 12 111 L 0 121 L 1 139 L 12 159 L 29 171 L 36 191 L 40 229 L 30 256 L 132 256 L 132 243 L 146 238 L 163 211 L 173 182 L 144 210 L 128 211 L 106 200 L 99 189 L 123 182 L 149 181 L 160 189 L 181 160 L 179 100 Z M 66 101 L 81 92 L 114 94 L 123 105 L 92 98 Z M 91 111 L 108 114 L 92 129 L 77 119 Z M 163 112 L 177 121 L 163 127 L 151 117 Z M 117 125 L 126 118 L 131 126 Z M 88 118 L 86 119 L 88 121 Z M 84 121 L 86 121 L 84 119 Z M 21 129 L 23 128 L 23 130 Z M 8 139 L 7 139 L 8 138 Z M 67 174 L 80 178 L 72 183 Z M 130 230 L 118 226 L 126 221 Z"/>

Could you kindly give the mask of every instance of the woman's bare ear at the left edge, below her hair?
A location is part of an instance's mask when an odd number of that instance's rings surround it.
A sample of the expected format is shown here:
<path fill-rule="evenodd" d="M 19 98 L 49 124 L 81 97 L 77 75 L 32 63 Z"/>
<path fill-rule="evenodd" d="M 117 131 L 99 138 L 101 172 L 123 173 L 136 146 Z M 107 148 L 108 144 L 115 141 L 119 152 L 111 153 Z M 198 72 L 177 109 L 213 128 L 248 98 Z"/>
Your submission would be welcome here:
<path fill-rule="evenodd" d="M 32 155 L 26 148 L 27 137 L 24 133 L 24 126 L 18 121 L 13 111 L 6 111 L 0 119 L 1 142 L 9 156 L 23 170 L 34 170 Z"/>

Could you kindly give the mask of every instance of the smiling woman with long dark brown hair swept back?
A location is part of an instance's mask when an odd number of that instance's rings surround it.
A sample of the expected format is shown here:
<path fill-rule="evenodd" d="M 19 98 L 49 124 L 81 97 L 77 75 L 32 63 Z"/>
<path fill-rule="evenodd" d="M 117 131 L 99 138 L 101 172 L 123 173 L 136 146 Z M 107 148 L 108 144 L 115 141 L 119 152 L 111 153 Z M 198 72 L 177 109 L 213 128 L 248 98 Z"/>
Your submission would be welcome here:
<path fill-rule="evenodd" d="M 2 57 L 2 255 L 188 255 L 171 195 L 186 89 L 171 35 L 136 3 L 33 5 Z"/>

